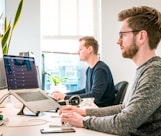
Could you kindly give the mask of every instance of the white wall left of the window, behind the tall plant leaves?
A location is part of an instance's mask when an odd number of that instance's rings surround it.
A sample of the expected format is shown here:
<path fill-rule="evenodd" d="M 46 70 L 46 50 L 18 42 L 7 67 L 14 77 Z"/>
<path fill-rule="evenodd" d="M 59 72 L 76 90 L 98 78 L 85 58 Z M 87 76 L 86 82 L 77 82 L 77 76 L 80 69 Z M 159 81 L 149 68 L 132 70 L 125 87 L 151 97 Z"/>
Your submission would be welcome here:
<path fill-rule="evenodd" d="M 19 0 L 6 0 L 6 16 L 14 19 Z M 36 63 L 41 65 L 40 0 L 24 0 L 20 20 L 13 31 L 9 54 L 31 51 Z"/>

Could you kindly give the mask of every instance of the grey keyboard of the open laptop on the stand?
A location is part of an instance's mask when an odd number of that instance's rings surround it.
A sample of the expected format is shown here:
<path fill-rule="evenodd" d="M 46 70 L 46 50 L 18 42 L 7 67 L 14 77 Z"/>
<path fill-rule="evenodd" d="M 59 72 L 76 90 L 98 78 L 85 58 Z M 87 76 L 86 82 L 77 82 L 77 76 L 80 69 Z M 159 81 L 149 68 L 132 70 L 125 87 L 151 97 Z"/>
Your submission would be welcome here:
<path fill-rule="evenodd" d="M 24 101 L 38 101 L 38 100 L 44 100 L 48 99 L 46 96 L 38 92 L 23 92 L 23 93 L 17 93 Z"/>

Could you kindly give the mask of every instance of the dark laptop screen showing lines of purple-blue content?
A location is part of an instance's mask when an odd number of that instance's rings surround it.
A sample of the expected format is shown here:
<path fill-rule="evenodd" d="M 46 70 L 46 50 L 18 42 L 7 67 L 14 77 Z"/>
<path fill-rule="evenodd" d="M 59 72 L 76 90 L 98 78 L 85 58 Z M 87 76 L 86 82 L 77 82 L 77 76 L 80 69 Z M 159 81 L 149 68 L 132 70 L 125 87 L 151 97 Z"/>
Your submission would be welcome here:
<path fill-rule="evenodd" d="M 8 90 L 38 88 L 34 57 L 4 55 Z"/>

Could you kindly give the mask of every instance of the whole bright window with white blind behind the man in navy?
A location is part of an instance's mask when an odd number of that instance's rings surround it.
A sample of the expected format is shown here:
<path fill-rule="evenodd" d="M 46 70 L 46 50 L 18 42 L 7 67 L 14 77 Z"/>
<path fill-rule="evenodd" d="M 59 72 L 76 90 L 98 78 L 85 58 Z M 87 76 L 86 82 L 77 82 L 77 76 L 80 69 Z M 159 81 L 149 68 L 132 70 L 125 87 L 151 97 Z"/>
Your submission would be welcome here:
<path fill-rule="evenodd" d="M 84 69 L 87 65 L 80 62 L 76 54 L 78 39 L 85 35 L 92 35 L 98 39 L 99 2 L 99 0 L 41 0 L 43 71 L 67 76 L 72 70 L 73 75 L 70 78 L 75 76 L 77 79 L 70 79 L 66 83 L 70 91 L 81 89 L 85 84 Z M 83 68 L 80 67 L 82 65 Z M 64 74 L 60 72 L 63 68 Z M 43 79 L 45 90 L 50 88 L 46 82 L 46 78 Z M 73 89 L 72 85 L 75 86 Z"/>

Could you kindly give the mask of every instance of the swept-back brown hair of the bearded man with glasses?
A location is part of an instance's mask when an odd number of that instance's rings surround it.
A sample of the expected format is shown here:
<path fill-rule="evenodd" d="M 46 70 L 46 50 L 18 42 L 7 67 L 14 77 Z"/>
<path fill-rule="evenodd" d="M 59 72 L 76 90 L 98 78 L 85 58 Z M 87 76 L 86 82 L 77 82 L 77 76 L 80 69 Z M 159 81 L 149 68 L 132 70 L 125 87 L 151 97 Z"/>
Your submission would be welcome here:
<path fill-rule="evenodd" d="M 132 30 L 145 30 L 149 37 L 150 49 L 156 49 L 161 39 L 161 13 L 148 6 L 133 7 L 121 11 L 118 20 L 128 19 Z"/>

